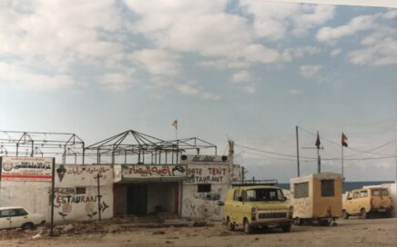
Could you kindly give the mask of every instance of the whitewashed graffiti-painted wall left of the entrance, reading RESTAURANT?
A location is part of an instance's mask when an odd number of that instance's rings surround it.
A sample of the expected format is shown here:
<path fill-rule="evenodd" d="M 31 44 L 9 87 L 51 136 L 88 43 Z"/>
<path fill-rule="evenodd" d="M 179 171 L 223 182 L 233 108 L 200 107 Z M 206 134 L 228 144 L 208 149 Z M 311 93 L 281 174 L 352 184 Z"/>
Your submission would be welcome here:
<path fill-rule="evenodd" d="M 113 217 L 113 169 L 110 165 L 56 165 L 55 187 L 55 222 L 97 220 L 99 211 L 102 219 Z M 2 181 L 0 206 L 23 206 L 29 212 L 44 214 L 49 222 L 50 194 L 50 182 Z"/>

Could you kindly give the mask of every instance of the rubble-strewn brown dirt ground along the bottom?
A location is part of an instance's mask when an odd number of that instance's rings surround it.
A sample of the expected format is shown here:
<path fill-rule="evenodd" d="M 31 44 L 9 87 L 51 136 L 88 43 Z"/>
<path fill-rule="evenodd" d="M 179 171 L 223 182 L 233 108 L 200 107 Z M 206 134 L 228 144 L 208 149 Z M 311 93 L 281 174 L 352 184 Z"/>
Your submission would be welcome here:
<path fill-rule="evenodd" d="M 116 222 L 74 224 L 74 229 L 59 230 L 56 237 L 46 230 L 0 231 L 0 246 L 397 246 L 397 218 L 338 220 L 337 226 L 292 226 L 291 232 L 278 229 L 245 234 L 229 232 L 220 222 L 205 226 L 180 224 L 146 228 L 126 227 Z M 67 227 L 66 227 L 67 228 Z M 69 231 L 69 232 L 67 232 Z M 40 236 L 32 239 L 41 232 Z"/>

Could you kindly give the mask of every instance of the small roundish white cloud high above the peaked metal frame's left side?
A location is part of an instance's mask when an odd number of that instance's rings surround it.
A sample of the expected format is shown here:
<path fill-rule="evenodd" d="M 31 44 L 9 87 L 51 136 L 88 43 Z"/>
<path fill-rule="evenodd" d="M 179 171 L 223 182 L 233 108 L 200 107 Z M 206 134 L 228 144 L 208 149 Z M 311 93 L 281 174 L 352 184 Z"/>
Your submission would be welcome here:
<path fill-rule="evenodd" d="M 108 73 L 102 75 L 100 84 L 106 89 L 114 92 L 121 92 L 128 89 L 132 84 L 132 76 L 124 73 Z"/>

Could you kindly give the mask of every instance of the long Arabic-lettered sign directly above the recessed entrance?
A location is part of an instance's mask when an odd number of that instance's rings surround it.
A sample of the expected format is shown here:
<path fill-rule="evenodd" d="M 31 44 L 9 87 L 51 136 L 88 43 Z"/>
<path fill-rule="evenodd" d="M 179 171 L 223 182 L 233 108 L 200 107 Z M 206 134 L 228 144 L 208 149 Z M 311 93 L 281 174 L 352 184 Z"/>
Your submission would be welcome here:
<path fill-rule="evenodd" d="M 122 165 L 122 178 L 178 178 L 186 177 L 187 166 L 183 164 L 126 164 Z"/>

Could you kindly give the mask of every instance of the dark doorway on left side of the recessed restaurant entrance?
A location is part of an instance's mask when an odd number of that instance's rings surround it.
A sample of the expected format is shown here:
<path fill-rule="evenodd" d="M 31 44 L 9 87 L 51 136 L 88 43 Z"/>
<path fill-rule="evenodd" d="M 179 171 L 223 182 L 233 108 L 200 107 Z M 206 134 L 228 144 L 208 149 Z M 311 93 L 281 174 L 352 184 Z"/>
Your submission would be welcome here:
<path fill-rule="evenodd" d="M 127 188 L 127 214 L 148 214 L 148 185 L 134 184 Z"/>

